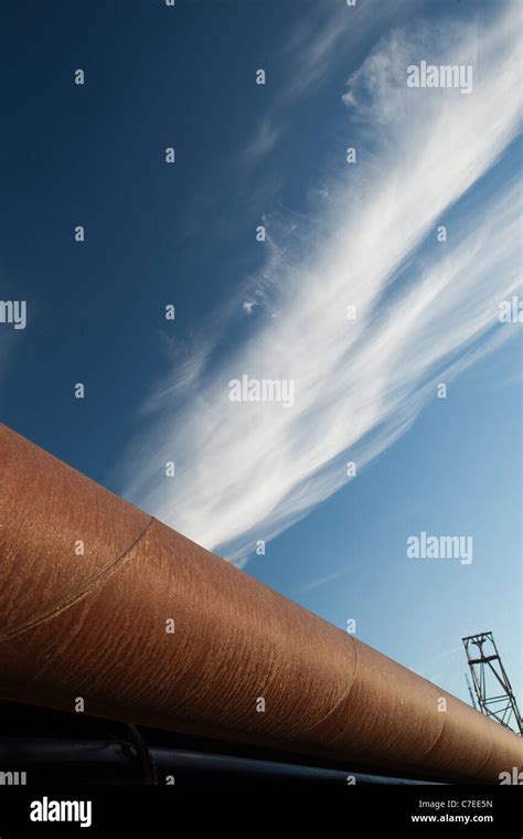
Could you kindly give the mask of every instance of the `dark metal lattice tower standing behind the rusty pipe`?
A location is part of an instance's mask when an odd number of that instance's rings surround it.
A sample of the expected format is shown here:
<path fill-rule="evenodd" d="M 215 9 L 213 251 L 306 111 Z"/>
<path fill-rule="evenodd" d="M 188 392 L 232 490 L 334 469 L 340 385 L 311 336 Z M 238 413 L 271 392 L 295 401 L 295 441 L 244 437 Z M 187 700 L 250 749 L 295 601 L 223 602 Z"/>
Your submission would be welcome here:
<path fill-rule="evenodd" d="M 472 675 L 478 710 L 523 735 L 520 710 L 492 633 L 469 635 L 461 640 Z M 471 699 L 476 707 L 472 692 Z"/>

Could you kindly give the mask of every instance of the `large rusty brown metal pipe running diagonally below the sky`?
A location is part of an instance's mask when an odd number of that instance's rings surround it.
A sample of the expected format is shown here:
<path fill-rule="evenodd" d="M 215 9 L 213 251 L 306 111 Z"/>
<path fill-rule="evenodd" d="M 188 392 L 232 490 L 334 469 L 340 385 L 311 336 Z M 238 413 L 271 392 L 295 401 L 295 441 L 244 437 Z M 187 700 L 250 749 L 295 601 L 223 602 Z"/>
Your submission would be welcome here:
<path fill-rule="evenodd" d="M 521 769 L 517 735 L 2 425 L 0 474 L 2 699 L 381 772 Z"/>

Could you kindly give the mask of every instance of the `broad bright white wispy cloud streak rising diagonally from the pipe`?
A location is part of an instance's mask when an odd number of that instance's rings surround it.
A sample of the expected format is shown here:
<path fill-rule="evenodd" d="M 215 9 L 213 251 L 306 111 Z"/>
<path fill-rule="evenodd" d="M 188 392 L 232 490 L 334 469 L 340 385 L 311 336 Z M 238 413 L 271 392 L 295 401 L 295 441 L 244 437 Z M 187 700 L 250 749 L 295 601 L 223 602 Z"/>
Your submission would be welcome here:
<path fill-rule="evenodd" d="M 513 334 L 497 316 L 519 286 L 519 189 L 483 191 L 447 243 L 424 245 L 517 132 L 517 49 L 501 14 L 483 32 L 416 26 L 352 74 L 357 164 L 332 176 L 299 247 L 273 248 L 271 305 L 246 336 L 200 360 L 182 400 L 175 387 L 153 396 L 128 497 L 241 561 L 343 486 L 348 460 L 361 469 L 405 433 L 436 382 Z M 406 66 L 423 57 L 473 62 L 473 93 L 407 88 Z M 244 373 L 295 380 L 293 408 L 230 402 Z M 163 478 L 168 460 L 175 479 Z"/>

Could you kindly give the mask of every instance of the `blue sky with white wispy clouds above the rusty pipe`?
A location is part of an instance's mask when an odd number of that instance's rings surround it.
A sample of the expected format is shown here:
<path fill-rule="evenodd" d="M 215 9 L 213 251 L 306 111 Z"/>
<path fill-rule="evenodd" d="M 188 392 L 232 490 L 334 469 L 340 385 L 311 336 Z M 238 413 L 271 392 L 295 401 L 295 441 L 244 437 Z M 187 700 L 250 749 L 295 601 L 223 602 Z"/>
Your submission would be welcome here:
<path fill-rule="evenodd" d="M 0 51 L 2 421 L 466 700 L 480 630 L 522 690 L 517 15 L 30 0 Z M 473 561 L 408 560 L 421 531 Z"/>

